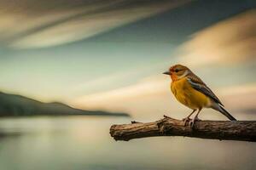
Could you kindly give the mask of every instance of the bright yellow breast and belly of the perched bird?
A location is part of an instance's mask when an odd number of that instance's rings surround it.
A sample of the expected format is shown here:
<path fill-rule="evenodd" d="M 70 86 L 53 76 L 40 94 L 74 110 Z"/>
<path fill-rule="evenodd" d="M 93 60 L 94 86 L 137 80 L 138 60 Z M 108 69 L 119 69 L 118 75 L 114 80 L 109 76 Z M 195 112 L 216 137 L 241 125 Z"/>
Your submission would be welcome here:
<path fill-rule="evenodd" d="M 171 89 L 176 99 L 190 109 L 201 109 L 210 104 L 210 99 L 205 94 L 192 88 L 186 77 L 172 82 Z"/>

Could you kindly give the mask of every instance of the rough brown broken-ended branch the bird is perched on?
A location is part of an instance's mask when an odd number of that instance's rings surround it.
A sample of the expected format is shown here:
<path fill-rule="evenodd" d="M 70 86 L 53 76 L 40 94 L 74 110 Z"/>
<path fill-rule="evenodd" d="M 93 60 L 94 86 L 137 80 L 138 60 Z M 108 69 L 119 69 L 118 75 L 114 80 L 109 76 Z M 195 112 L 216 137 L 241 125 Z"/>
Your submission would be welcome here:
<path fill-rule="evenodd" d="M 184 136 L 201 139 L 256 141 L 256 121 L 198 121 L 193 127 L 181 120 L 166 117 L 156 122 L 131 122 L 113 125 L 110 134 L 115 140 L 154 136 Z"/>

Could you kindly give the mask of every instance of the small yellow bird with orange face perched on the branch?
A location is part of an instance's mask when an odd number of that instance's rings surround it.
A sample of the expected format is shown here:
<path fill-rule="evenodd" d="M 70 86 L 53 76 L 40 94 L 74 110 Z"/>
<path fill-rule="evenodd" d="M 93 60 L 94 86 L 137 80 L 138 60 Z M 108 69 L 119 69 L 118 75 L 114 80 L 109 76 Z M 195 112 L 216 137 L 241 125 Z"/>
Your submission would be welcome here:
<path fill-rule="evenodd" d="M 192 110 L 189 116 L 183 118 L 185 125 L 189 122 L 190 126 L 193 127 L 196 121 L 200 121 L 198 115 L 203 108 L 212 108 L 229 118 L 230 121 L 236 121 L 236 118 L 224 109 L 224 105 L 213 94 L 212 90 L 207 87 L 206 83 L 200 77 L 197 77 L 187 66 L 173 65 L 163 74 L 169 75 L 172 78 L 171 90 L 175 98 Z M 197 111 L 195 117 L 190 119 L 190 116 L 195 111 Z"/>

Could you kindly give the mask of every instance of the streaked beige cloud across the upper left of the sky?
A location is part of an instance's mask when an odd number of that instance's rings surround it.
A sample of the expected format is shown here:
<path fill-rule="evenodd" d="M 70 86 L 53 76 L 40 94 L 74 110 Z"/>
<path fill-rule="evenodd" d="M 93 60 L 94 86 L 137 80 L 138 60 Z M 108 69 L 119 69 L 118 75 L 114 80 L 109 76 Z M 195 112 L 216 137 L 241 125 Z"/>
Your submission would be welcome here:
<path fill-rule="evenodd" d="M 75 42 L 185 2 L 0 0 L 0 8 L 6 8 L 0 13 L 0 41 L 13 48 L 44 48 Z"/>

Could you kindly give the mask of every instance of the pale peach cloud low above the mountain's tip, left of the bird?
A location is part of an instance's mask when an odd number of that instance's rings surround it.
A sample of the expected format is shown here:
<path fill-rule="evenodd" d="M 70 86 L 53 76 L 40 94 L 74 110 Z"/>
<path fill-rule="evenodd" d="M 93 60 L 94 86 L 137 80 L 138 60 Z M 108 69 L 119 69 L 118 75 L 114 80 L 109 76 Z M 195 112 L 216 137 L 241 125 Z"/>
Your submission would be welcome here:
<path fill-rule="evenodd" d="M 162 100 L 163 96 L 170 98 L 168 87 L 169 78 L 148 77 L 131 86 L 84 95 L 67 103 L 90 110 L 127 111 L 134 116 L 154 114 L 155 109 L 168 106 L 169 100 Z"/>

